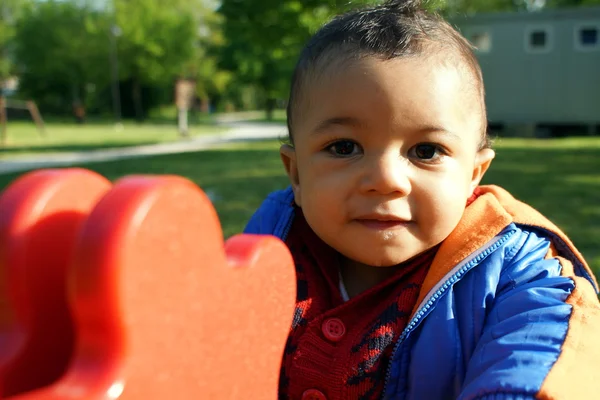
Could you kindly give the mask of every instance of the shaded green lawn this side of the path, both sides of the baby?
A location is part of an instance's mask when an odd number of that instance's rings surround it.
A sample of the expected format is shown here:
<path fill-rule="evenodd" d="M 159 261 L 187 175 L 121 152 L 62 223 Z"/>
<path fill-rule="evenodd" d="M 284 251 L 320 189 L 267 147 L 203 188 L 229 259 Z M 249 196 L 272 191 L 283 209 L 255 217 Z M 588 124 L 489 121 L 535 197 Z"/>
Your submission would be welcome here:
<path fill-rule="evenodd" d="M 287 185 L 276 141 L 149 157 L 87 167 L 110 179 L 126 174 L 177 174 L 211 195 L 224 233 L 240 232 L 267 193 Z M 505 139 L 486 184 L 498 184 L 559 225 L 600 276 L 600 138 Z M 0 175 L 4 187 L 15 175 Z"/>

